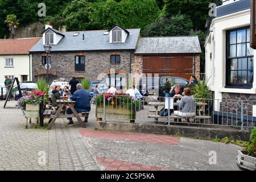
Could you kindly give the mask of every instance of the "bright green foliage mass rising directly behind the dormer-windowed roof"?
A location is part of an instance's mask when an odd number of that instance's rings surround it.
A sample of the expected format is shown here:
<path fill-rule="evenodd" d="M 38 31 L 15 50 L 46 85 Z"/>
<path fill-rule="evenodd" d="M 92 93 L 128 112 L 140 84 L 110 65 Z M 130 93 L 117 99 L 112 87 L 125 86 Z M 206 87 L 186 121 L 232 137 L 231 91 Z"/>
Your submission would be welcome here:
<path fill-rule="evenodd" d="M 67 30 L 108 29 L 114 24 L 125 28 L 144 28 L 159 15 L 155 0 L 125 0 L 90 3 L 72 1 L 63 11 Z"/>

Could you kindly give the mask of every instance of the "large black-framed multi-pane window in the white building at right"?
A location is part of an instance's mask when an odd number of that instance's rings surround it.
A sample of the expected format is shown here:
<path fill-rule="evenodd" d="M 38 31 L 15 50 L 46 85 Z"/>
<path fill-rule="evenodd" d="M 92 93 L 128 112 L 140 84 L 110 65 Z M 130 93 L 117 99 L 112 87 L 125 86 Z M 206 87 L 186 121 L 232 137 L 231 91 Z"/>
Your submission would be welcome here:
<path fill-rule="evenodd" d="M 226 86 L 253 84 L 253 49 L 250 48 L 250 28 L 226 33 Z"/>

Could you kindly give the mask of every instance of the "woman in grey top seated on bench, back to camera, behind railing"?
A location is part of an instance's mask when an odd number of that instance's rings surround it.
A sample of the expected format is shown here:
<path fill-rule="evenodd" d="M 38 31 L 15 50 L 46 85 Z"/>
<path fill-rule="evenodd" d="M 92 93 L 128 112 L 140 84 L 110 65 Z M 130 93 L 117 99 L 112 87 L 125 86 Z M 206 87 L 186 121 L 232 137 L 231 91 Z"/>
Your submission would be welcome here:
<path fill-rule="evenodd" d="M 191 90 L 189 88 L 184 89 L 184 97 L 181 98 L 179 108 L 181 111 L 174 111 L 174 115 L 178 115 L 183 118 L 194 117 L 196 115 L 196 102 L 195 98 L 191 96 Z"/>

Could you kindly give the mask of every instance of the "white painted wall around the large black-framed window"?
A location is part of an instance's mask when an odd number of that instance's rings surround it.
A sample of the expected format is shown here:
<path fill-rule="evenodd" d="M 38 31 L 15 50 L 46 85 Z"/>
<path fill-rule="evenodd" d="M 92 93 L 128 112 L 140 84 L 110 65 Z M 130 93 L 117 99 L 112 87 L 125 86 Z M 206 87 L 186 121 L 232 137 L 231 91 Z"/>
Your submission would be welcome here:
<path fill-rule="evenodd" d="M 250 9 L 213 19 L 212 32 L 205 43 L 205 74 L 207 78 L 210 77 L 208 84 L 214 91 L 216 99 L 221 99 L 222 93 L 225 92 L 256 94 L 256 64 L 254 64 L 253 88 L 225 88 L 226 31 L 246 26 L 250 26 Z M 212 59 L 210 59 L 210 52 L 212 52 Z M 256 60 L 256 50 L 254 50 L 254 60 Z"/>

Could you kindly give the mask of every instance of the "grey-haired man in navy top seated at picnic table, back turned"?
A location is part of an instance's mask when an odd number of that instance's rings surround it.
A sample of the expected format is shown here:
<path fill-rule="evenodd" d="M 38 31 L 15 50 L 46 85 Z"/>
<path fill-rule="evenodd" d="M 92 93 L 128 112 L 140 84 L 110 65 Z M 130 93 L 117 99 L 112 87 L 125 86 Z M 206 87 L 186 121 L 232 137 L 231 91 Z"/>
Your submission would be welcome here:
<path fill-rule="evenodd" d="M 82 112 L 89 112 L 90 111 L 90 92 L 88 90 L 85 90 L 82 88 L 82 84 L 76 85 L 77 91 L 73 94 L 71 97 L 72 101 L 76 101 L 75 109 L 77 113 Z M 72 114 L 73 111 L 68 108 L 67 114 Z M 88 117 L 89 115 L 85 116 L 85 124 L 88 124 Z M 66 126 L 73 126 L 74 123 L 72 121 L 72 118 L 67 118 L 69 122 L 66 124 Z"/>

